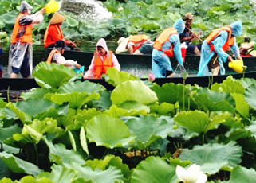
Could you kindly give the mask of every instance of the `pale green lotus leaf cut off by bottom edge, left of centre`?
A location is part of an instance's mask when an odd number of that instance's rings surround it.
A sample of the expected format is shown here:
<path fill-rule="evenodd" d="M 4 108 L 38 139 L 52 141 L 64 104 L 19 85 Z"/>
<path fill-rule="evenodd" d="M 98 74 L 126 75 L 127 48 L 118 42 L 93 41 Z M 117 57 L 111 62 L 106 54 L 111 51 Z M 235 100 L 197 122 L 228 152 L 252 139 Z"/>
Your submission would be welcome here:
<path fill-rule="evenodd" d="M 77 171 L 66 168 L 63 165 L 53 165 L 49 178 L 57 183 L 70 183 L 73 179 L 77 178 Z"/>

